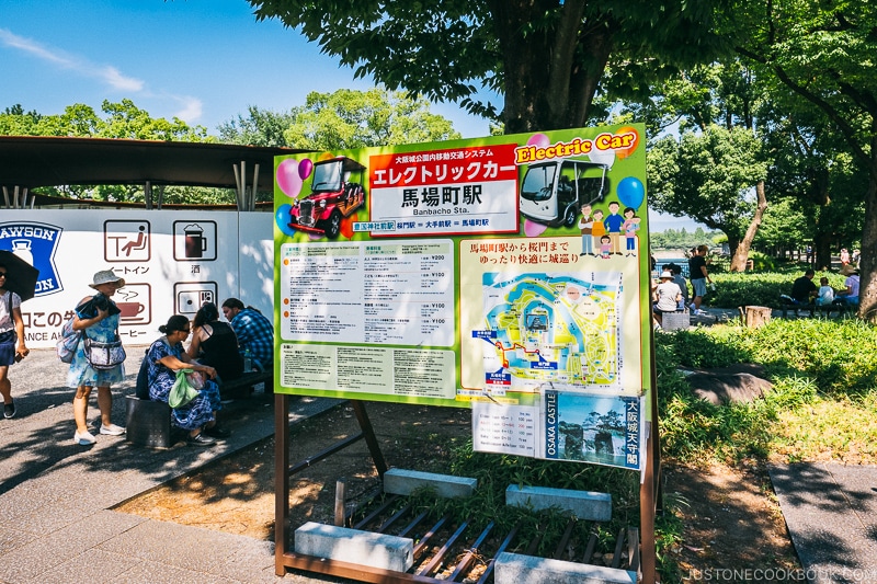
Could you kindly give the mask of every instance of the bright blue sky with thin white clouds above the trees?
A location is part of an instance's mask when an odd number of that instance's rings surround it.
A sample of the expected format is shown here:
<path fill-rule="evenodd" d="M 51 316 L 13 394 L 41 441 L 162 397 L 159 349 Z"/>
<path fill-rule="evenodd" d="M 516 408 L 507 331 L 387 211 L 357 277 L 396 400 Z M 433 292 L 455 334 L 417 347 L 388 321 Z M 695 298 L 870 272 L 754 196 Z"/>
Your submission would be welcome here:
<path fill-rule="evenodd" d="M 367 90 L 319 47 L 277 21 L 257 22 L 244 0 L 1 0 L 0 110 L 100 112 L 130 99 L 152 117 L 176 116 L 210 134 L 250 105 L 287 111 L 310 91 Z M 464 138 L 488 123 L 455 104 L 432 111 Z M 694 229 L 651 214 L 651 228 Z"/>

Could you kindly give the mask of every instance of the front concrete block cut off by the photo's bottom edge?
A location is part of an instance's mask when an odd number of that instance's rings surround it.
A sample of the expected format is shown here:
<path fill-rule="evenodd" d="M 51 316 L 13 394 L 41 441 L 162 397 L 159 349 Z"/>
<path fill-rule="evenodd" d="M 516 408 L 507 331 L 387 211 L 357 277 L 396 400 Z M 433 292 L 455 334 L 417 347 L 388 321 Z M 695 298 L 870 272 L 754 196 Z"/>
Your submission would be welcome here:
<path fill-rule="evenodd" d="M 494 584 L 636 584 L 637 573 L 503 551 L 493 564 Z"/>

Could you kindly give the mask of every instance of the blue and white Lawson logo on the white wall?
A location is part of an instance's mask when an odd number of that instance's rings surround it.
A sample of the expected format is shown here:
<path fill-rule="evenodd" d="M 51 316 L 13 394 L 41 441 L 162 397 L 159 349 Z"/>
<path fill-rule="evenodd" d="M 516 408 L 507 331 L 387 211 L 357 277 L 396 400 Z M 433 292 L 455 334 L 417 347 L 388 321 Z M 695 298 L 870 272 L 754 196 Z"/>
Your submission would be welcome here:
<path fill-rule="evenodd" d="M 0 250 L 11 251 L 39 271 L 36 296 L 59 293 L 64 285 L 55 267 L 60 227 L 47 224 L 0 224 Z"/>

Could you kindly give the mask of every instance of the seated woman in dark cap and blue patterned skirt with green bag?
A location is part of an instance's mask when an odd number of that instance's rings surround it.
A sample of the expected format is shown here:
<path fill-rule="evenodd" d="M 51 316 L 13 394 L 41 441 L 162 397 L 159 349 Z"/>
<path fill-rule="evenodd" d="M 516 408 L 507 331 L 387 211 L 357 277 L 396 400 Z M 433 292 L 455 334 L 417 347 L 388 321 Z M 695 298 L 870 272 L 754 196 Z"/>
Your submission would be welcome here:
<path fill-rule="evenodd" d="M 180 408 L 171 410 L 173 425 L 189 431 L 187 443 L 196 446 L 213 446 L 214 438 L 228 437 L 229 433 L 216 425 L 216 412 L 221 408 L 219 387 L 215 381 L 216 369 L 208 365 L 192 363 L 183 350 L 189 336 L 189 319 L 174 314 L 167 324 L 158 329 L 164 336 L 152 343 L 146 352 L 149 399 L 168 402 L 179 369 L 193 369 L 205 375 L 204 388 L 198 396 Z"/>

